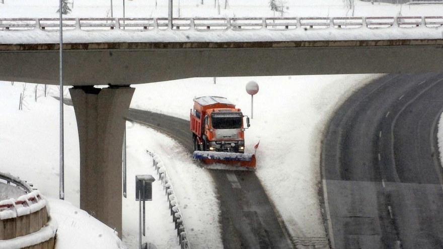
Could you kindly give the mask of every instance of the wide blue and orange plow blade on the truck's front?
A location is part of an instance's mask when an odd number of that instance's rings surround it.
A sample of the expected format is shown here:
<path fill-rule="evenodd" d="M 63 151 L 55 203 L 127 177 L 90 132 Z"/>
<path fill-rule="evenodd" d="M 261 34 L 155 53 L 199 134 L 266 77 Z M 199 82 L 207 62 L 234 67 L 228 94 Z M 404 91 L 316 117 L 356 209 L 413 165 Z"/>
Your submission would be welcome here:
<path fill-rule="evenodd" d="M 255 168 L 255 154 L 243 154 L 216 151 L 194 151 L 194 159 L 201 160 L 205 164 L 229 164 L 233 166 Z"/>

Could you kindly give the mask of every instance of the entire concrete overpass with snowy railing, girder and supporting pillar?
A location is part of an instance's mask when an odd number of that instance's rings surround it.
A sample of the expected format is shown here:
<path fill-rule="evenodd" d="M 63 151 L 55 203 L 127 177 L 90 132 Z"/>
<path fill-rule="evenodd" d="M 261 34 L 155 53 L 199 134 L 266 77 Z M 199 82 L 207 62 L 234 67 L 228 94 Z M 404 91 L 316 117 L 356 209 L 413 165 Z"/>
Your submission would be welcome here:
<path fill-rule="evenodd" d="M 172 27 L 163 18 L 63 19 L 81 208 L 121 234 L 115 183 L 122 177 L 129 85 L 205 76 L 441 72 L 442 25 L 443 17 L 182 18 Z M 58 19 L 0 19 L 0 80 L 57 85 L 58 31 Z"/>

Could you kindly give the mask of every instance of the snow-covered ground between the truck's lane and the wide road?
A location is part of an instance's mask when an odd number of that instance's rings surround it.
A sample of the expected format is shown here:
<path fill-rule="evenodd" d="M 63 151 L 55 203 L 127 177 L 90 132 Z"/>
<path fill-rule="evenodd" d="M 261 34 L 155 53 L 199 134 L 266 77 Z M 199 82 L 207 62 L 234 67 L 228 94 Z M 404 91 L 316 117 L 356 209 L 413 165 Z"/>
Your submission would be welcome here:
<path fill-rule="evenodd" d="M 258 82 L 246 152 L 253 152 L 260 141 L 256 174 L 291 235 L 322 237 L 318 201 L 322 132 L 334 108 L 377 76 L 231 77 L 216 78 L 215 85 L 213 78 L 174 80 L 135 86 L 131 107 L 188 120 L 194 97 L 214 95 L 227 97 L 250 115 L 245 86 L 250 80 Z"/>

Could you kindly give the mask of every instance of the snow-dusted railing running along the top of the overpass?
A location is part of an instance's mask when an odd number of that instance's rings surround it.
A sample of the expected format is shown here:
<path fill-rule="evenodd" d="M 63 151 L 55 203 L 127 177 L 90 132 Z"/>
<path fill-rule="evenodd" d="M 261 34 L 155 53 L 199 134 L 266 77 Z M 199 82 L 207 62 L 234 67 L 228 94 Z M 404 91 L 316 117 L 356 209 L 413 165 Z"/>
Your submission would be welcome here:
<path fill-rule="evenodd" d="M 174 18 L 176 30 L 291 30 L 350 28 L 439 27 L 443 17 L 271 17 L 271 18 Z M 167 18 L 64 18 L 63 30 L 166 30 Z M 56 18 L 4 18 L 0 30 L 59 30 Z"/>

